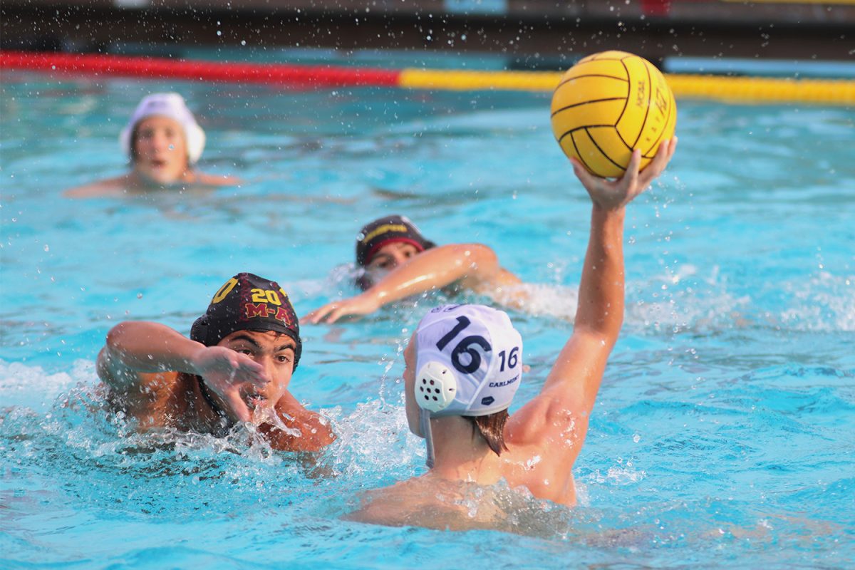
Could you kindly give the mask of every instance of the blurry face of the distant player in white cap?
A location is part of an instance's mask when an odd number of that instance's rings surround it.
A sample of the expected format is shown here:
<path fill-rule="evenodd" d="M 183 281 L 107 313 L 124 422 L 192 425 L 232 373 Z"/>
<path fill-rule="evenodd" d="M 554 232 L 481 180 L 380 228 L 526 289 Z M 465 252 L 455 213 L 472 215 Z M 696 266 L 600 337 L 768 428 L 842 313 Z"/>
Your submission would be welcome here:
<path fill-rule="evenodd" d="M 151 116 L 137 123 L 133 139 L 133 169 L 159 185 L 180 181 L 188 168 L 184 129 L 174 119 Z"/>

